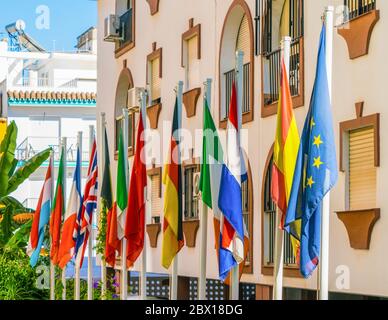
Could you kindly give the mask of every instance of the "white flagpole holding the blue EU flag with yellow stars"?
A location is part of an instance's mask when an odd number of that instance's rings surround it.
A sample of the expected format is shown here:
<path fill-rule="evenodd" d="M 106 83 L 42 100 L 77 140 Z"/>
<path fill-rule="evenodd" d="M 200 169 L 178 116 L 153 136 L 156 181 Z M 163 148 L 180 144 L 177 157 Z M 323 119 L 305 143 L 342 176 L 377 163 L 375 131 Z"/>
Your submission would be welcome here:
<path fill-rule="evenodd" d="M 326 69 L 329 86 L 330 102 L 332 101 L 332 69 L 333 69 L 333 14 L 334 7 L 325 8 L 326 24 Z M 319 268 L 319 299 L 329 300 L 329 234 L 330 234 L 330 191 L 322 201 L 321 216 L 321 257 Z"/>

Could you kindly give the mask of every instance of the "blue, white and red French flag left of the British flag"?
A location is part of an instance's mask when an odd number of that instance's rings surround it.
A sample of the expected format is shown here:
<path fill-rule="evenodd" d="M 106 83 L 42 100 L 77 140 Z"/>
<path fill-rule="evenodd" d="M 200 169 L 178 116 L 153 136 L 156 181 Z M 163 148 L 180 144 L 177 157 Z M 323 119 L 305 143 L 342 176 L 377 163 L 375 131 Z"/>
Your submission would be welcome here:
<path fill-rule="evenodd" d="M 77 148 L 77 160 L 74 170 L 73 183 L 71 185 L 70 197 L 67 202 L 67 208 L 62 225 L 61 243 L 58 251 L 58 265 L 61 269 L 66 267 L 71 260 L 75 251 L 76 236 L 76 220 L 81 212 L 82 196 L 81 196 L 81 154 Z"/>

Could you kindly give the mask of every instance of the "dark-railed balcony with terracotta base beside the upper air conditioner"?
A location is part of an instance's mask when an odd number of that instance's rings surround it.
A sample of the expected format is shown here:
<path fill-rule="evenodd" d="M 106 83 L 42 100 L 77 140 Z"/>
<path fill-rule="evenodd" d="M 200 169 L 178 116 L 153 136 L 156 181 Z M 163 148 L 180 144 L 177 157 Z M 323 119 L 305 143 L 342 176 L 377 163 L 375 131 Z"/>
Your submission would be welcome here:
<path fill-rule="evenodd" d="M 130 50 L 135 45 L 135 19 L 133 9 L 128 9 L 120 16 L 121 40 L 116 43 L 116 58 Z"/>

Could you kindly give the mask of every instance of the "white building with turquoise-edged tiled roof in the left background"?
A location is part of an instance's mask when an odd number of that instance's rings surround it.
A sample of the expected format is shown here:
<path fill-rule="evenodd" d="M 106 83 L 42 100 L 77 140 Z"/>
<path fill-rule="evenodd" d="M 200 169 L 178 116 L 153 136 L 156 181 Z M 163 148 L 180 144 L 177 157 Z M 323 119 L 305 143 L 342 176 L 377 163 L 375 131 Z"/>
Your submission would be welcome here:
<path fill-rule="evenodd" d="M 77 39 L 74 52 L 46 52 L 18 22 L 7 26 L 9 38 L 0 41 L 0 114 L 18 126 L 16 157 L 30 158 L 51 146 L 55 166 L 59 142 L 67 137 L 67 189 L 71 187 L 77 134 L 83 133 L 83 166 L 89 157 L 89 126 L 96 113 L 96 29 Z M 47 163 L 14 196 L 35 208 Z"/>

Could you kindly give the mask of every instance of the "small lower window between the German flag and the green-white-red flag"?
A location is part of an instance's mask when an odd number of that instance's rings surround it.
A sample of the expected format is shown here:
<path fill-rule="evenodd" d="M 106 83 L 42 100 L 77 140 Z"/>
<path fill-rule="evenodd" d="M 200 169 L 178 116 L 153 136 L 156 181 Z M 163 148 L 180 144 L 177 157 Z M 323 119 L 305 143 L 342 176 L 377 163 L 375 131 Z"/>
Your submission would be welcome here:
<path fill-rule="evenodd" d="M 185 220 L 194 220 L 199 217 L 199 174 L 197 166 L 184 169 L 184 216 Z"/>

